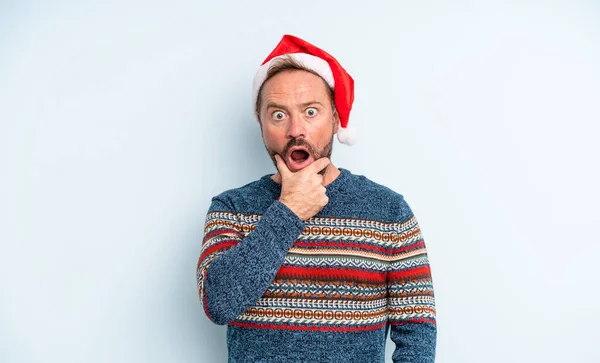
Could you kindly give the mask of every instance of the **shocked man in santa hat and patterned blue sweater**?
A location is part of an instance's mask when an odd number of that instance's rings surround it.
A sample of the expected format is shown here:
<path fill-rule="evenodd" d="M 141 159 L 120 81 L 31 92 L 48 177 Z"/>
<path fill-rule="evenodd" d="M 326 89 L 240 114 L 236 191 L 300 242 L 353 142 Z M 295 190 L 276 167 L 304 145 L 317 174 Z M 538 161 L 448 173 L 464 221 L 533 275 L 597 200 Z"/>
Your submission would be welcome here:
<path fill-rule="evenodd" d="M 254 80 L 277 168 L 212 199 L 197 278 L 227 324 L 230 362 L 433 362 L 425 244 L 404 198 L 331 163 L 351 143 L 354 82 L 328 53 L 285 35 Z"/>

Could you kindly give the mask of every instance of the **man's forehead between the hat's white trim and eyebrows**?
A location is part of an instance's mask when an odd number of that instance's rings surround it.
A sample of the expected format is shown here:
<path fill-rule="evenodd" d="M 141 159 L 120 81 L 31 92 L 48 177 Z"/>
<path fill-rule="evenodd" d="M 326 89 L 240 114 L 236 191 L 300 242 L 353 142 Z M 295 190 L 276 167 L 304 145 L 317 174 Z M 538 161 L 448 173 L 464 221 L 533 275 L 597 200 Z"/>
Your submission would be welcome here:
<path fill-rule="evenodd" d="M 277 73 L 265 82 L 261 97 L 263 101 L 324 102 L 329 99 L 327 87 L 325 81 L 313 73 L 288 70 Z"/>

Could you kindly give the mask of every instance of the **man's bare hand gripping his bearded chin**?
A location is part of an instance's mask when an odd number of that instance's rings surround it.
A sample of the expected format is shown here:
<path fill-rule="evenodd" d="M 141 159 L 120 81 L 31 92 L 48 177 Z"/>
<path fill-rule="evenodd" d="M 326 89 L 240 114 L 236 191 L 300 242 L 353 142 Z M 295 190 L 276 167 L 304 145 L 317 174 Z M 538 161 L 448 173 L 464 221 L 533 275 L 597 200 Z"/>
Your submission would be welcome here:
<path fill-rule="evenodd" d="M 323 175 L 319 172 L 329 165 L 328 158 L 316 160 L 297 172 L 291 172 L 281 156 L 275 154 L 277 169 L 281 175 L 281 195 L 279 201 L 305 221 L 329 202 L 323 186 Z"/>

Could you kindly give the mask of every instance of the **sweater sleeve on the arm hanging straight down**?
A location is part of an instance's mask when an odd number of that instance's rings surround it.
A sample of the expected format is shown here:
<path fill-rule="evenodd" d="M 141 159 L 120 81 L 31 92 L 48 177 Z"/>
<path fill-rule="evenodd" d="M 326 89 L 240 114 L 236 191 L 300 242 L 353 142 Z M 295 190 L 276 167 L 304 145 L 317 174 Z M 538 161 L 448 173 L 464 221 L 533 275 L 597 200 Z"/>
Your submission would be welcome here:
<path fill-rule="evenodd" d="M 387 276 L 390 338 L 394 363 L 433 363 L 436 348 L 435 301 L 421 229 L 402 200 L 398 246 Z"/>

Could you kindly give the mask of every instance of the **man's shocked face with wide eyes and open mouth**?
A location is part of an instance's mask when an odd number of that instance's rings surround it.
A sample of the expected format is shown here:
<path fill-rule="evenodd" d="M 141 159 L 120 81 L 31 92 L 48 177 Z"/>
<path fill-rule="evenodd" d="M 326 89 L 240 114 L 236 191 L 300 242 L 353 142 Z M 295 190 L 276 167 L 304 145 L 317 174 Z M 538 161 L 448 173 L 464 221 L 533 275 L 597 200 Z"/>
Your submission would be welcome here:
<path fill-rule="evenodd" d="M 275 165 L 275 154 L 292 172 L 331 157 L 339 121 L 323 79 L 306 71 L 283 71 L 264 84 L 261 97 L 262 137 Z"/>

